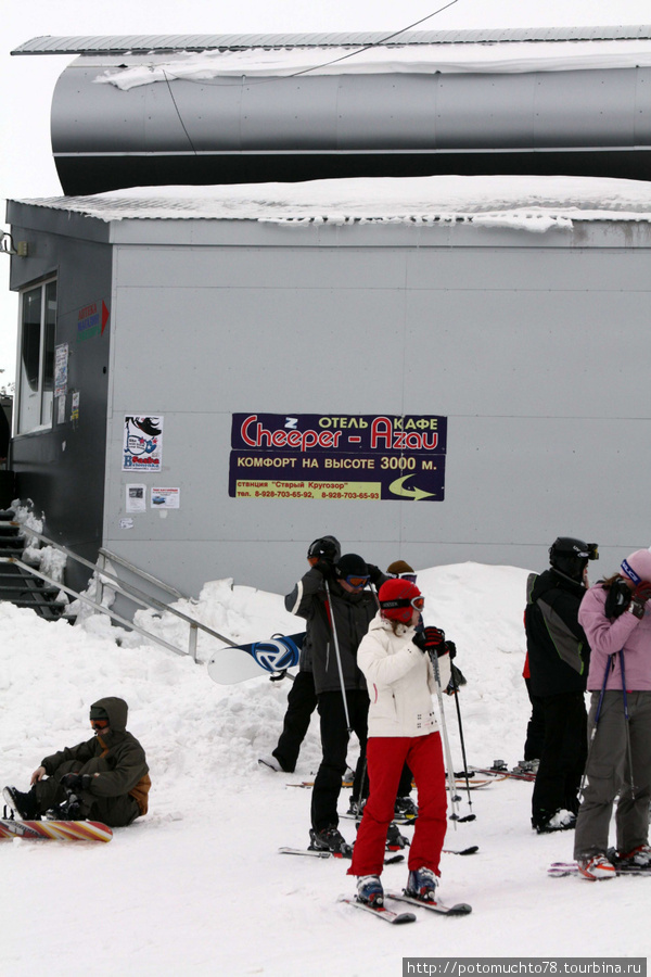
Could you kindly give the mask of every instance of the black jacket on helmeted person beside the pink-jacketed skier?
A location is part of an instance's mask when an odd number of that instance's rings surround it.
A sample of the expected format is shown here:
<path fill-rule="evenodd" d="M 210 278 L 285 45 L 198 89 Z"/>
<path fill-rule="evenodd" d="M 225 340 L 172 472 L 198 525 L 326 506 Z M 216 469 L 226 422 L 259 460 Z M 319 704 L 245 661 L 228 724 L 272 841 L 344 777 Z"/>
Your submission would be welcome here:
<path fill-rule="evenodd" d="M 524 627 L 535 696 L 586 690 L 590 648 L 578 623 L 585 594 L 583 584 L 553 568 L 529 573 Z"/>

